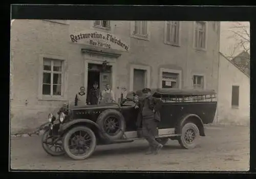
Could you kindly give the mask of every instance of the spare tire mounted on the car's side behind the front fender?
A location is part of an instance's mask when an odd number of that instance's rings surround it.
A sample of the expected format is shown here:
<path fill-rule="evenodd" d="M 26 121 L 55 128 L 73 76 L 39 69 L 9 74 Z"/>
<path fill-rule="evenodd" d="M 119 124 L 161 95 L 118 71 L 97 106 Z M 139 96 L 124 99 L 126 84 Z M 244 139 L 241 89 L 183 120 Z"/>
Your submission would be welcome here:
<path fill-rule="evenodd" d="M 114 119 L 114 120 L 113 120 Z M 118 127 L 111 126 L 111 120 L 113 120 Z M 97 119 L 97 124 L 99 125 L 102 133 L 102 137 L 114 141 L 121 139 L 123 137 L 123 132 L 125 131 L 125 120 L 123 115 L 115 109 L 104 110 Z M 113 123 L 112 123 L 113 124 Z M 108 128 L 111 130 L 109 130 Z"/>

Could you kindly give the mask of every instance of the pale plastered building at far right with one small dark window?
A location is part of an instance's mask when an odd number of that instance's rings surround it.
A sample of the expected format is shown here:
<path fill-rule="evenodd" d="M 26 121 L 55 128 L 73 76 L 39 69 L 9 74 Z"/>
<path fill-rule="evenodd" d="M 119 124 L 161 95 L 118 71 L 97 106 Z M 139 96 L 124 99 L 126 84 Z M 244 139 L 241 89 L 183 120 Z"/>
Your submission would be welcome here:
<path fill-rule="evenodd" d="M 219 60 L 217 121 L 224 124 L 249 125 L 250 77 L 222 53 Z"/>

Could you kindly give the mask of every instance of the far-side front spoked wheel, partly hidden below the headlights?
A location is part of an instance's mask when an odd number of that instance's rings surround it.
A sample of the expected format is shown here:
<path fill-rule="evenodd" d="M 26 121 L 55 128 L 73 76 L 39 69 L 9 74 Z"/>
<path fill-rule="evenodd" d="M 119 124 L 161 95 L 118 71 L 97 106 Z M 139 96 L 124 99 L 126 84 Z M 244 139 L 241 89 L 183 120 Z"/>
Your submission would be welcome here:
<path fill-rule="evenodd" d="M 42 135 L 42 148 L 44 148 L 44 150 L 52 156 L 65 154 L 61 139 L 57 140 L 57 137 L 51 137 L 49 133 L 50 130 L 46 130 Z"/>

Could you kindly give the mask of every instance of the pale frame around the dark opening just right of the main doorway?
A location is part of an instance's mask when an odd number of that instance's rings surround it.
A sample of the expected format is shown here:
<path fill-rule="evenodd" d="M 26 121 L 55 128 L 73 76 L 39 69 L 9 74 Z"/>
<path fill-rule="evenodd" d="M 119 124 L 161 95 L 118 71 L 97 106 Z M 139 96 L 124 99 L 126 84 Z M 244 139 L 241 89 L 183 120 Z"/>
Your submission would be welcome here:
<path fill-rule="evenodd" d="M 145 87 L 150 88 L 150 79 L 151 79 L 151 69 L 147 65 L 138 65 L 131 64 L 130 66 L 130 92 L 133 91 L 133 79 L 134 79 L 134 70 L 144 70 L 145 71 Z"/>

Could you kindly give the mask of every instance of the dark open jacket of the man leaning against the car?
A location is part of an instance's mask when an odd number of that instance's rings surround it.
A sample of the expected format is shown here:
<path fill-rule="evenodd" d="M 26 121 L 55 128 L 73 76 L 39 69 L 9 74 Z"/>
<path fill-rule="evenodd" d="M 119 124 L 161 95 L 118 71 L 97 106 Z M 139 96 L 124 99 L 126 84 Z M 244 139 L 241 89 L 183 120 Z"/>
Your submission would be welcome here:
<path fill-rule="evenodd" d="M 142 124 L 142 110 L 143 110 L 143 104 L 144 104 L 144 100 L 138 102 L 136 105 L 139 106 L 138 110 L 139 110 L 139 113 L 138 113 L 138 117 L 137 117 L 137 127 L 141 127 L 141 124 Z M 151 110 L 155 110 L 155 114 L 154 114 L 154 119 L 157 120 L 157 121 L 161 121 L 161 116 L 160 116 L 160 108 L 162 106 L 162 102 L 160 99 L 158 98 L 155 98 L 155 97 L 151 97 L 150 100 L 146 100 L 148 102 L 148 106 Z"/>

